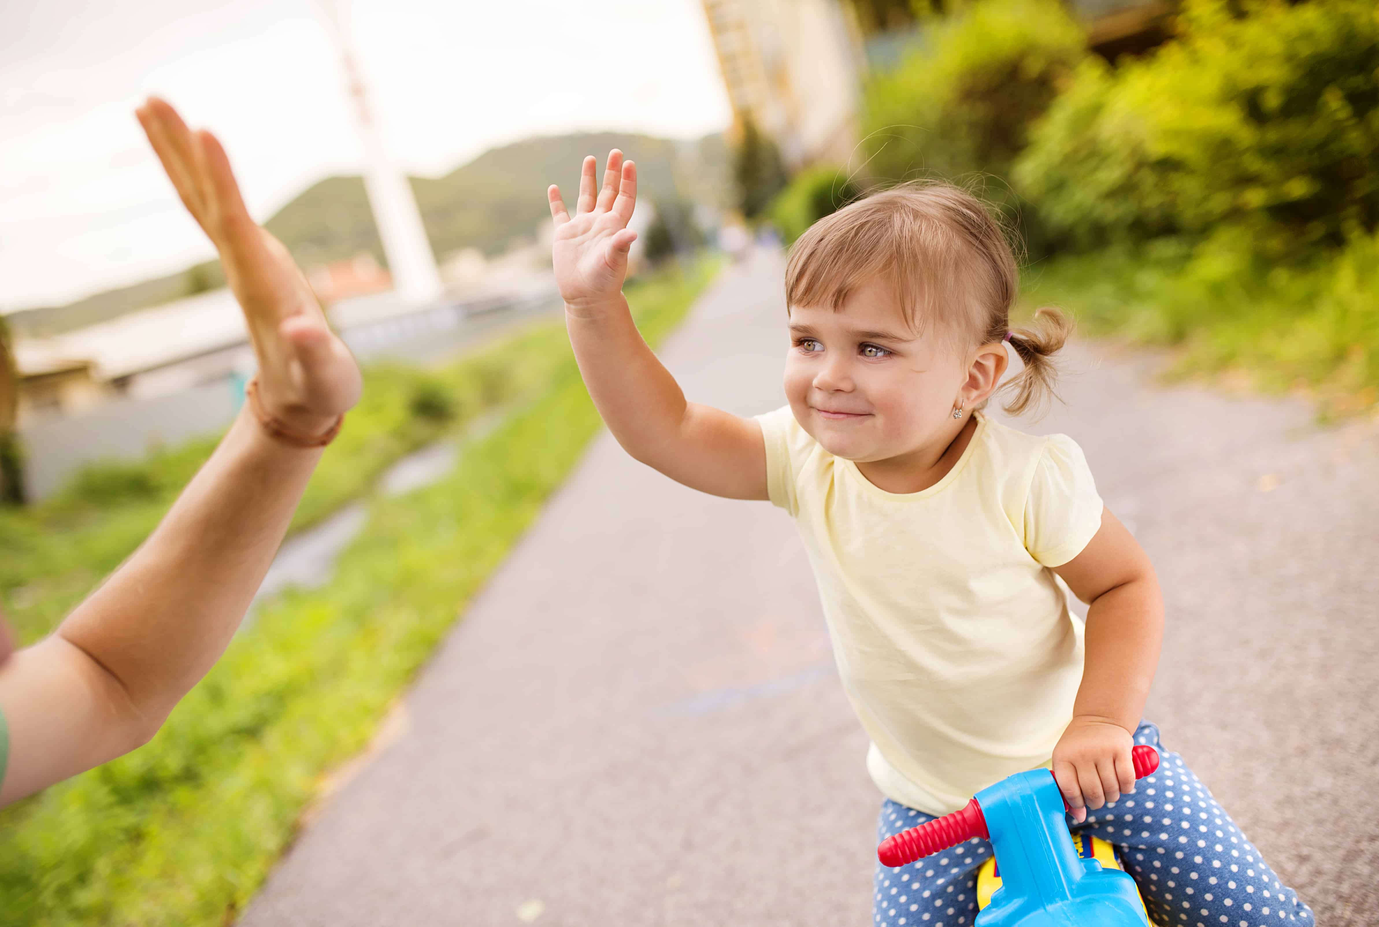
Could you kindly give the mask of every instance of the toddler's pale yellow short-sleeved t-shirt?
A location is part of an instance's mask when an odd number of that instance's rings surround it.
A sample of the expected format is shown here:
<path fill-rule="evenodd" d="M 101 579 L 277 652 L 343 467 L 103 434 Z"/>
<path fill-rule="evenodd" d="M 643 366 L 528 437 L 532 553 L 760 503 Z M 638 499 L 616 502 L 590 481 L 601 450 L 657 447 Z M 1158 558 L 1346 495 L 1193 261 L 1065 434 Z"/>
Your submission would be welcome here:
<path fill-rule="evenodd" d="M 881 792 L 929 814 L 1048 764 L 1083 679 L 1083 625 L 1049 567 L 1102 499 L 1081 448 L 980 412 L 953 469 L 887 492 L 800 428 L 760 415 L 771 502 L 794 516 L 843 687 Z"/>

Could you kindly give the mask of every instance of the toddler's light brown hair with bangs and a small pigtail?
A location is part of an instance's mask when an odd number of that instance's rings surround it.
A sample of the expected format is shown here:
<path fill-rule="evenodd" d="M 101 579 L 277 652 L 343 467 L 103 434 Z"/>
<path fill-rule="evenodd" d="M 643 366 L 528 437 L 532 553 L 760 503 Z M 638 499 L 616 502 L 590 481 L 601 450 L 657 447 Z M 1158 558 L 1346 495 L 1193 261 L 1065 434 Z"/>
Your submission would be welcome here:
<path fill-rule="evenodd" d="M 891 284 L 912 330 L 935 326 L 965 353 L 1005 339 L 1025 370 L 1005 411 L 1041 407 L 1054 392 L 1052 356 L 1073 332 L 1058 309 L 1009 328 L 1019 266 L 1001 223 L 980 199 L 950 183 L 913 182 L 873 193 L 815 222 L 790 248 L 786 303 L 837 310 L 872 280 Z"/>

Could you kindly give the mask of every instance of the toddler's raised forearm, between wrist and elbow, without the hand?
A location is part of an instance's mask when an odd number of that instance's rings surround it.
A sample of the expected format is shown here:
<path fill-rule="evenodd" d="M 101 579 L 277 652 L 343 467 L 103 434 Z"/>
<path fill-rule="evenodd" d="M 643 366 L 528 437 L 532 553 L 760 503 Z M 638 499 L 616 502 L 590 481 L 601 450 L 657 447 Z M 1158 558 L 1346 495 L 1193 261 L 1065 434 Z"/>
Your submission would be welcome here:
<path fill-rule="evenodd" d="M 681 435 L 688 403 L 643 341 L 622 294 L 597 309 L 565 308 L 579 372 L 598 414 L 634 458 L 658 465 Z M 659 468 L 658 468 L 659 469 Z"/>

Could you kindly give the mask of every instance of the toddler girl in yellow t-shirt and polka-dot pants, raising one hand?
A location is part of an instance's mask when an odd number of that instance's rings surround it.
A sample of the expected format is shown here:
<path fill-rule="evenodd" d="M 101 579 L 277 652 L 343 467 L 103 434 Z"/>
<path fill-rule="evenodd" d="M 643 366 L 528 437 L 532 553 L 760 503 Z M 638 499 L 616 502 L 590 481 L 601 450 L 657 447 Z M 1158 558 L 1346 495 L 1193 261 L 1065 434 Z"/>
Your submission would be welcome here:
<path fill-rule="evenodd" d="M 878 837 L 1051 766 L 1074 826 L 1117 846 L 1162 924 L 1311 920 L 1211 793 L 1140 720 L 1162 635 L 1145 552 L 1087 461 L 983 414 L 1051 389 L 1069 334 L 1012 330 L 1018 272 L 1000 225 L 940 183 L 869 196 L 816 222 L 786 268 L 789 406 L 757 418 L 687 403 L 622 297 L 636 167 L 586 159 L 579 203 L 550 188 L 554 269 L 585 383 L 629 454 L 706 492 L 769 499 L 800 527 L 848 699 L 885 796 Z M 1089 610 L 1069 611 L 1062 577 Z M 1135 789 L 1134 744 L 1162 766 Z M 1128 797 L 1136 792 L 1134 797 Z M 1091 814 L 1088 814 L 1091 811 Z M 874 921 L 976 915 L 990 844 L 878 868 Z"/>

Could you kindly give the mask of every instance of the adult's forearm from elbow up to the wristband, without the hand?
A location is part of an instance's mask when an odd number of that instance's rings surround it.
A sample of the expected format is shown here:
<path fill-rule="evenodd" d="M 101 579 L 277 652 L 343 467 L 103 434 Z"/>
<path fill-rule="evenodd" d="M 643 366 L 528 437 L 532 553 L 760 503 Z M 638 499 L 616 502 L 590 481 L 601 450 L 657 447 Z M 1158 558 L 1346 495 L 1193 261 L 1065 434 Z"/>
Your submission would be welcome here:
<path fill-rule="evenodd" d="M 244 410 L 149 539 L 59 626 L 150 728 L 234 635 L 320 455 Z"/>

